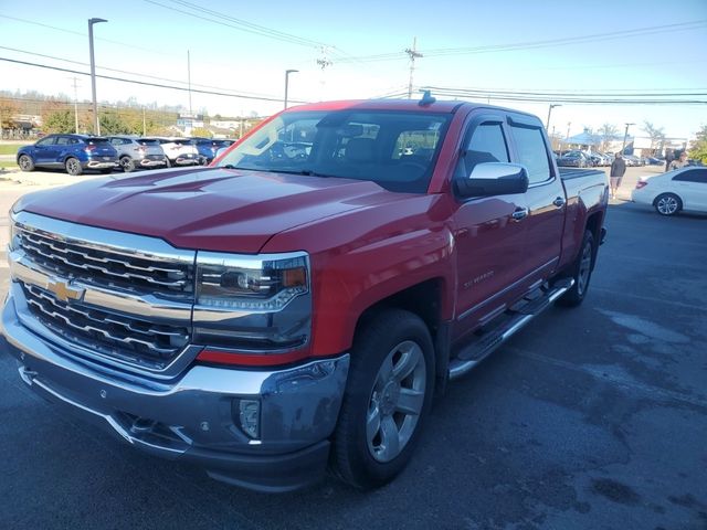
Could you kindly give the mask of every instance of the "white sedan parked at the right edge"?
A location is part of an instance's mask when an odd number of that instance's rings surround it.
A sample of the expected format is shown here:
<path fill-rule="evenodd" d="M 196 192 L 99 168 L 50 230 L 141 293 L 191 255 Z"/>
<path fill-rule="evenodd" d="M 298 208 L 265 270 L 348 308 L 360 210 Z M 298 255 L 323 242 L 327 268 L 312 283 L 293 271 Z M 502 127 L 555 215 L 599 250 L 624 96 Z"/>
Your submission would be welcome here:
<path fill-rule="evenodd" d="M 642 177 L 631 200 L 655 208 L 661 215 L 707 213 L 707 168 L 688 166 L 656 177 Z"/>

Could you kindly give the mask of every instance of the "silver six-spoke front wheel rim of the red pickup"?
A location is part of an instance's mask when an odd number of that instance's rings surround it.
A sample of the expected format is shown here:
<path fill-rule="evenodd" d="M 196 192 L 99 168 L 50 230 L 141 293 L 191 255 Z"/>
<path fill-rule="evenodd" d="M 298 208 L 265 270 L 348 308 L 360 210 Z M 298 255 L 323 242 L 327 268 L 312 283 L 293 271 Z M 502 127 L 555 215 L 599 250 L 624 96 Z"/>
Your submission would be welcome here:
<path fill-rule="evenodd" d="M 366 416 L 366 439 L 371 456 L 391 462 L 410 442 L 422 407 L 426 367 L 422 348 L 412 340 L 395 346 L 376 375 Z"/>

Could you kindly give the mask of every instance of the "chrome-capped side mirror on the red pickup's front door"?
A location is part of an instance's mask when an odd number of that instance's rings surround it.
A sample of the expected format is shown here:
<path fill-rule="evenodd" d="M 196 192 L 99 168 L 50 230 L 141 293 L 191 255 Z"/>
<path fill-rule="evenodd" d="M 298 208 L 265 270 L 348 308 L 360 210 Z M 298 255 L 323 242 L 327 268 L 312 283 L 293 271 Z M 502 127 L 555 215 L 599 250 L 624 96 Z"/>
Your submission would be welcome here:
<path fill-rule="evenodd" d="M 468 178 L 454 180 L 460 197 L 510 195 L 528 191 L 528 170 L 519 163 L 483 162 Z"/>

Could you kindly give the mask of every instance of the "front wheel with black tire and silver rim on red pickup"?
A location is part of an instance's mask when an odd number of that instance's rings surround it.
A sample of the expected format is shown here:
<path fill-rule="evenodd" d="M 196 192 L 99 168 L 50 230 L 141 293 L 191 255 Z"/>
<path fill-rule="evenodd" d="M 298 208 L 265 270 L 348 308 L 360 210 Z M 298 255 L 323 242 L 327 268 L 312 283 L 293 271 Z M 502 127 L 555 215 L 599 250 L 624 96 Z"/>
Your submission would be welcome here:
<path fill-rule="evenodd" d="M 334 434 L 334 474 L 360 489 L 392 480 L 414 452 L 433 392 L 432 339 L 416 315 L 389 309 L 361 322 Z"/>

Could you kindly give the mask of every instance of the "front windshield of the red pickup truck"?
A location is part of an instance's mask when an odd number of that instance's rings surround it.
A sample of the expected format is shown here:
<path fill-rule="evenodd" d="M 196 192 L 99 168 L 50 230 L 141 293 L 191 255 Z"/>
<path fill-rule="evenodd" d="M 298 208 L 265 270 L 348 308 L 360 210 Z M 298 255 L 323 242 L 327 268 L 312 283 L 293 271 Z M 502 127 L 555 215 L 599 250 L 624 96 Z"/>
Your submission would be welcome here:
<path fill-rule="evenodd" d="M 450 116 L 350 109 L 285 113 L 219 166 L 370 180 L 391 191 L 424 193 Z"/>

